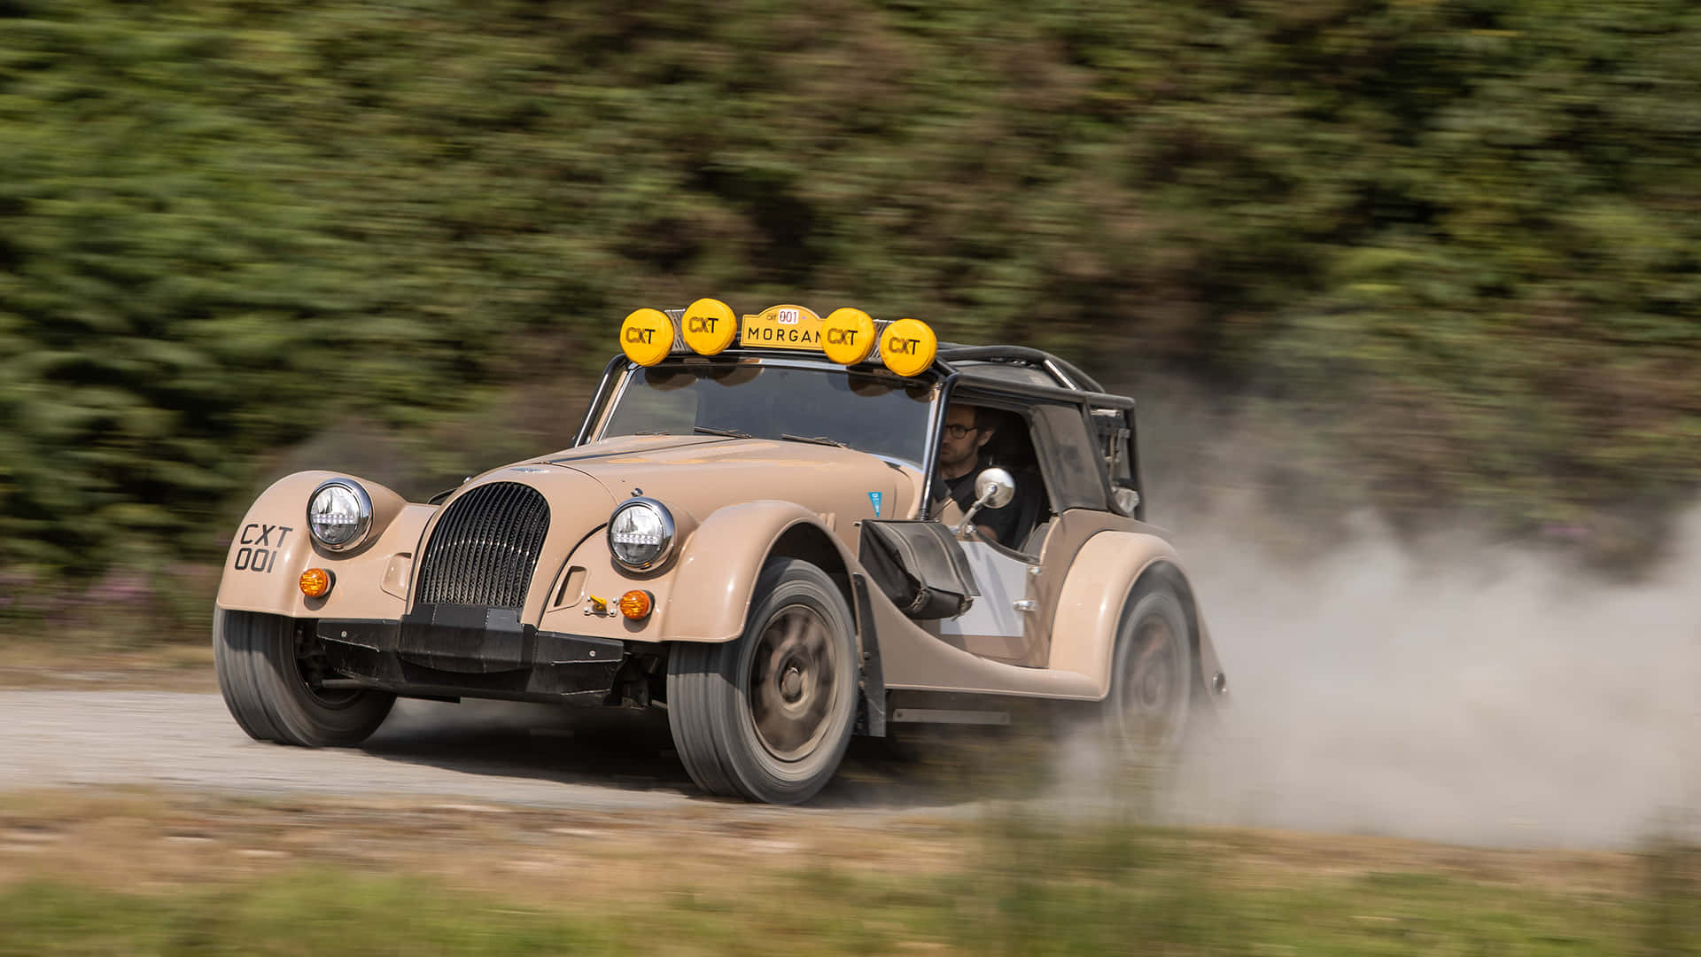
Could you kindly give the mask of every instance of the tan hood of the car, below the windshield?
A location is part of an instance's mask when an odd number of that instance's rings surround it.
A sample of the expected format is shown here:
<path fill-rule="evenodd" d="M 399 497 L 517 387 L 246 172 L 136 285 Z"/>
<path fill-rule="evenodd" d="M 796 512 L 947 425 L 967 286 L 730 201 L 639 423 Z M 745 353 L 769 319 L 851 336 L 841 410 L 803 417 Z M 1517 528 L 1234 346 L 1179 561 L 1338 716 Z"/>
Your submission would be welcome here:
<path fill-rule="evenodd" d="M 699 521 L 737 502 L 798 502 L 847 540 L 854 521 L 907 514 L 917 477 L 912 468 L 849 448 L 721 436 L 623 436 L 531 465 L 580 472 L 614 501 L 648 496 Z"/>

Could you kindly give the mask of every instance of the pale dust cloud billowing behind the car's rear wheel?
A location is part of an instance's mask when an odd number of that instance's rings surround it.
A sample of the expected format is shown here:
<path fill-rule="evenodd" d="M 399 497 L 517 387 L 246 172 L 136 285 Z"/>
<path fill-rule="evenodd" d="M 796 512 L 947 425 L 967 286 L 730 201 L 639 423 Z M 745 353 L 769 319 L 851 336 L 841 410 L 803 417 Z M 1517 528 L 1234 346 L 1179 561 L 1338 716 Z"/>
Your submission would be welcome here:
<path fill-rule="evenodd" d="M 1701 509 L 1640 584 L 1371 519 L 1294 562 L 1179 530 L 1233 703 L 1165 788 L 1191 824 L 1628 848 L 1701 809 Z"/>

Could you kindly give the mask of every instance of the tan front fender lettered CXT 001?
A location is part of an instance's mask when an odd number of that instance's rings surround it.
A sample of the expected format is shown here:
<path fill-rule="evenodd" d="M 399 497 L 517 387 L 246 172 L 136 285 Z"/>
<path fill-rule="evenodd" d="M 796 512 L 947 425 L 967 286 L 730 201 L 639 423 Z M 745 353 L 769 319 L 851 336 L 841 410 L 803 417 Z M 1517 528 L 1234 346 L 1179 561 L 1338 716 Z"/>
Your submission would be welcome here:
<path fill-rule="evenodd" d="M 306 528 L 308 496 L 328 478 L 354 478 L 373 499 L 373 531 L 347 553 L 318 548 Z M 231 536 L 218 587 L 226 611 L 291 618 L 400 618 L 413 550 L 434 506 L 413 506 L 390 489 L 338 472 L 296 472 L 274 482 L 248 507 Z M 301 572 L 330 569 L 330 594 L 301 594 Z"/>

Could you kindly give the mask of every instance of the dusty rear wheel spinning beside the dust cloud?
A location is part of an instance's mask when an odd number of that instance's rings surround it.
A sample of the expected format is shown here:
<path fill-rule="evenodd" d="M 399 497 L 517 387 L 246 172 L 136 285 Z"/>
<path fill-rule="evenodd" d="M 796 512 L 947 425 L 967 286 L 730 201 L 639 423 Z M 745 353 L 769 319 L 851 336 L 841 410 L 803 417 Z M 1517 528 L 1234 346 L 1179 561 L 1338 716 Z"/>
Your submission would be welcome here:
<path fill-rule="evenodd" d="M 1187 613 L 1169 589 L 1135 593 L 1111 659 L 1104 724 L 1128 759 L 1163 763 L 1180 751 L 1192 708 Z"/>

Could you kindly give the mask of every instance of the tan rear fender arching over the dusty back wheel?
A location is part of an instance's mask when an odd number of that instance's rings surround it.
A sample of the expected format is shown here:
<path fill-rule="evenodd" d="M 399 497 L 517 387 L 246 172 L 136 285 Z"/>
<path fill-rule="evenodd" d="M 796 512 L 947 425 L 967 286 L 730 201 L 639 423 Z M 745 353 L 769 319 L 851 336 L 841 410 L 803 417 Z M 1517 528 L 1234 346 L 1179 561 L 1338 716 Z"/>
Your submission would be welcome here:
<path fill-rule="evenodd" d="M 1050 668 L 1085 674 L 1092 678 L 1101 698 L 1109 695 L 1111 659 L 1123 610 L 1135 587 L 1153 574 L 1170 574 L 1175 579 L 1172 584 L 1179 584 L 1177 598 L 1187 606 L 1194 625 L 1196 679 L 1211 686 L 1208 676 L 1215 676 L 1221 666 L 1204 628 L 1204 616 L 1180 570 L 1180 559 L 1169 542 L 1140 531 L 1101 531 L 1075 555 L 1051 622 Z"/>

